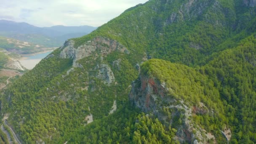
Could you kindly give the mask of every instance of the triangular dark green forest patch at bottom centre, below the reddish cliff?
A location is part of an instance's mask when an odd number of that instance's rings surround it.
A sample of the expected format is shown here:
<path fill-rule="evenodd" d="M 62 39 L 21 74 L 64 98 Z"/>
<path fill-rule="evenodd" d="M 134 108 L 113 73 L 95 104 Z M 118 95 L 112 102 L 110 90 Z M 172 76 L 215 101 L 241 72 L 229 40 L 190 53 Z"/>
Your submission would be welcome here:
<path fill-rule="evenodd" d="M 65 135 L 58 143 L 174 144 L 177 143 L 173 140 L 175 133 L 175 129 L 166 128 L 153 115 L 146 116 L 131 104 L 125 104 L 115 114 Z"/>

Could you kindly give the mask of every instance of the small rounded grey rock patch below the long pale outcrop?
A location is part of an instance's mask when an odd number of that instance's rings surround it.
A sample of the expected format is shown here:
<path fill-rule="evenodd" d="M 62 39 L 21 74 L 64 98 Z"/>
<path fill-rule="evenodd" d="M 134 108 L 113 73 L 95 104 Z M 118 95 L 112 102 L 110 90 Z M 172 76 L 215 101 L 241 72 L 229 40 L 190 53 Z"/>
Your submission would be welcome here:
<path fill-rule="evenodd" d="M 104 83 L 110 85 L 111 83 L 115 82 L 114 74 L 107 64 L 97 65 L 95 69 L 99 69 L 96 77 L 103 80 Z"/>

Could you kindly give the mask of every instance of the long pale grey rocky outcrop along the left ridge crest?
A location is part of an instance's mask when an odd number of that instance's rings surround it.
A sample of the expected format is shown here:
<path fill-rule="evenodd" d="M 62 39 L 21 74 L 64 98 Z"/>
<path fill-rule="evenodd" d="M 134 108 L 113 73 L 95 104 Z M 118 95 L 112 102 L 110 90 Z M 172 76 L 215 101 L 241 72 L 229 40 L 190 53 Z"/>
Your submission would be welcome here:
<path fill-rule="evenodd" d="M 120 51 L 126 54 L 130 53 L 130 51 L 128 51 L 122 44 L 106 37 L 95 37 L 84 45 L 80 45 L 78 48 L 75 48 L 74 45 L 74 40 L 67 40 L 60 48 L 60 57 L 63 59 L 73 59 L 73 67 L 80 66 L 77 64 L 77 61 L 91 56 L 93 53 L 97 53 L 101 56 L 107 56 L 113 51 Z"/>

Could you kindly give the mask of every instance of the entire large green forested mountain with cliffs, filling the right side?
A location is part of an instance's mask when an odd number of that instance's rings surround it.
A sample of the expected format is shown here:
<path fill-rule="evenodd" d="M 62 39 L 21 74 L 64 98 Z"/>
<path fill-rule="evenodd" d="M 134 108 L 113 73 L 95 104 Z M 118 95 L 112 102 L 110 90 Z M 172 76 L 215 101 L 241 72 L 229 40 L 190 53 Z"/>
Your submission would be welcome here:
<path fill-rule="evenodd" d="M 255 7 L 129 8 L 9 85 L 1 117 L 24 143 L 256 143 Z"/>

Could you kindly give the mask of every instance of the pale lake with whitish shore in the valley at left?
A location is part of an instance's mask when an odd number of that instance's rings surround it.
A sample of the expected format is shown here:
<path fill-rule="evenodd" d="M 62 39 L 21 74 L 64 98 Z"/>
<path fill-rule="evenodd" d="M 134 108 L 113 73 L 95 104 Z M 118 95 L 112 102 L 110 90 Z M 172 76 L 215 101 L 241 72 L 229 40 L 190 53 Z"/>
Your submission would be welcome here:
<path fill-rule="evenodd" d="M 45 53 L 38 53 L 38 54 L 24 56 L 19 61 L 23 67 L 27 69 L 33 69 L 43 58 L 48 56 L 51 52 L 52 51 L 48 51 Z"/>

